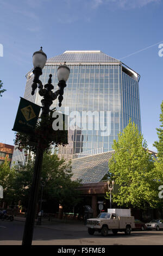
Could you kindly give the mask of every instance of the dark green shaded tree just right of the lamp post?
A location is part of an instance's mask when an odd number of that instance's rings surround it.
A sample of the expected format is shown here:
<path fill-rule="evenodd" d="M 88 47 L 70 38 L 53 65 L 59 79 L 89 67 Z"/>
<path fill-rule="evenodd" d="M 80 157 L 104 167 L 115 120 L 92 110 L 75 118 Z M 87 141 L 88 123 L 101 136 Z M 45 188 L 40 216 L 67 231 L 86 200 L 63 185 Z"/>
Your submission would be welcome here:
<path fill-rule="evenodd" d="M 45 193 L 49 199 L 68 207 L 79 202 L 76 188 L 79 181 L 72 181 L 71 162 L 59 160 L 57 154 L 45 153 L 42 163 L 42 179 L 47 179 Z"/>

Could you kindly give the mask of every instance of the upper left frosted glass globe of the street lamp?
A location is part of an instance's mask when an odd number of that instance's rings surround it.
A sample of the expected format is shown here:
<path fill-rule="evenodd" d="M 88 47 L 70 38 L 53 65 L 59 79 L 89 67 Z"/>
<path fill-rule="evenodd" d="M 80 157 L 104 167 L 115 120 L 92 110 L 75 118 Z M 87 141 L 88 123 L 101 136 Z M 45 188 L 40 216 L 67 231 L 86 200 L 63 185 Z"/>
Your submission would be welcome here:
<path fill-rule="evenodd" d="M 40 51 L 34 52 L 33 54 L 33 66 L 34 68 L 40 68 L 43 69 L 46 64 L 47 56 L 42 51 L 42 47 Z"/>

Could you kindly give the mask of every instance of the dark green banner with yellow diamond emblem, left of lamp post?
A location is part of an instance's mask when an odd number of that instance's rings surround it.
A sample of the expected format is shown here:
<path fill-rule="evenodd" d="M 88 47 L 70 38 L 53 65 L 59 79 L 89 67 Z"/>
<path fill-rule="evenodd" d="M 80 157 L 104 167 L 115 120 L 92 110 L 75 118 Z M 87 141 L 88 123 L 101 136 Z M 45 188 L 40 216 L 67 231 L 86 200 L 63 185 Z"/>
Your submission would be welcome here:
<path fill-rule="evenodd" d="M 41 107 L 21 97 L 12 131 L 33 133 Z"/>

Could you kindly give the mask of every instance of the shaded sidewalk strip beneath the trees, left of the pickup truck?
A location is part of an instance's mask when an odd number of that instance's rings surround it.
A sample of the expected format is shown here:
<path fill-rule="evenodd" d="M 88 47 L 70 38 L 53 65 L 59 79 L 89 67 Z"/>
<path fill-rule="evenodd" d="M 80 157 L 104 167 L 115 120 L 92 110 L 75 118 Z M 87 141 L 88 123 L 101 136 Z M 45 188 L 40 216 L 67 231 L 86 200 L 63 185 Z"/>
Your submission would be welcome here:
<path fill-rule="evenodd" d="M 14 221 L 25 222 L 25 217 L 14 216 Z M 54 218 L 52 221 L 43 219 L 41 225 L 36 225 L 37 220 L 35 220 L 35 227 L 38 228 L 49 228 L 55 230 L 68 230 L 68 231 L 87 231 L 86 225 L 82 221 L 77 220 L 59 220 Z"/>

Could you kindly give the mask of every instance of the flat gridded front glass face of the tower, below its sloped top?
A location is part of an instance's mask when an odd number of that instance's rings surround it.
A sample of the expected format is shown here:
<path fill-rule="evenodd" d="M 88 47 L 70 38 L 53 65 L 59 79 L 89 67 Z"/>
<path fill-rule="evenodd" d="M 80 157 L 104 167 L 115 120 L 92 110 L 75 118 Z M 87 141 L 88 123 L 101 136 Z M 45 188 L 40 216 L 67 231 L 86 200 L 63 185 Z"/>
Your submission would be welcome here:
<path fill-rule="evenodd" d="M 58 89 L 58 66 L 46 65 L 41 76 L 45 84 L 49 74 L 53 75 L 54 90 Z M 57 107 L 65 113 L 66 107 L 66 113 L 68 111 L 70 115 L 70 126 L 74 125 L 74 129 L 69 131 L 68 146 L 61 148 L 59 153 L 62 150 L 62 156 L 68 157 L 72 154 L 84 156 L 112 150 L 113 140 L 117 139 L 117 133 L 122 130 L 121 65 L 68 66 L 70 77 L 64 90 L 62 106 L 59 108 L 58 101 L 55 101 L 52 108 Z M 41 97 L 37 93 L 35 103 L 40 105 L 40 101 Z M 83 118 L 88 111 L 92 119 Z"/>

